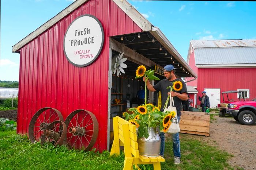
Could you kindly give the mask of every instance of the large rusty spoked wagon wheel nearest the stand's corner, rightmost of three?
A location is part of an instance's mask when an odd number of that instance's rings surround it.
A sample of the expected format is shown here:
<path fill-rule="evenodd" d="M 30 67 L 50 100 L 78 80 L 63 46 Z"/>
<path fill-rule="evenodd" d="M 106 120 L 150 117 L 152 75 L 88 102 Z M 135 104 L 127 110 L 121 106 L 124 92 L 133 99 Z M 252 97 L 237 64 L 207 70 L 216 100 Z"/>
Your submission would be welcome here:
<path fill-rule="evenodd" d="M 99 125 L 93 113 L 78 109 L 70 113 L 65 120 L 69 148 L 89 151 L 98 137 Z"/>

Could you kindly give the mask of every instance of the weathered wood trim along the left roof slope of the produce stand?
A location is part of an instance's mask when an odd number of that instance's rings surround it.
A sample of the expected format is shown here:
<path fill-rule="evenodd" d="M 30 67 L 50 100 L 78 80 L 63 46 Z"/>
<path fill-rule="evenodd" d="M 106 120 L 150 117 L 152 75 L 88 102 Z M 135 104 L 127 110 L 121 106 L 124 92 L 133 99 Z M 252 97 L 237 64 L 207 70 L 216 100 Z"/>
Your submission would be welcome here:
<path fill-rule="evenodd" d="M 36 38 L 38 35 L 42 34 L 44 31 L 48 30 L 51 26 L 59 22 L 59 20 L 63 19 L 65 16 L 67 16 L 69 13 L 74 11 L 76 8 L 78 8 L 80 5 L 82 5 L 86 1 L 88 0 L 76 0 L 74 3 L 69 5 L 67 8 L 65 8 L 63 11 L 58 13 L 52 19 L 44 23 L 41 27 L 37 28 L 34 32 L 31 32 L 28 36 L 20 40 L 20 42 L 12 46 L 12 53 L 19 53 L 18 50 L 21 47 L 25 46 L 27 43 L 29 43 L 31 40 Z"/>

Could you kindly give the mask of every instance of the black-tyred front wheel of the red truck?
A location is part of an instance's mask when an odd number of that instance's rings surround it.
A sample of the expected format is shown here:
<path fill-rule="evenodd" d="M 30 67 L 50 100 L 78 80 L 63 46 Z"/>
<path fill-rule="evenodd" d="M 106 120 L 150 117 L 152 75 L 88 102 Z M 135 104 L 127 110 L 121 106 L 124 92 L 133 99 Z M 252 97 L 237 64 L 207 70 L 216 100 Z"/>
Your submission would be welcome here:
<path fill-rule="evenodd" d="M 252 125 L 256 121 L 256 115 L 252 111 L 245 110 L 239 113 L 238 120 L 241 124 Z"/>

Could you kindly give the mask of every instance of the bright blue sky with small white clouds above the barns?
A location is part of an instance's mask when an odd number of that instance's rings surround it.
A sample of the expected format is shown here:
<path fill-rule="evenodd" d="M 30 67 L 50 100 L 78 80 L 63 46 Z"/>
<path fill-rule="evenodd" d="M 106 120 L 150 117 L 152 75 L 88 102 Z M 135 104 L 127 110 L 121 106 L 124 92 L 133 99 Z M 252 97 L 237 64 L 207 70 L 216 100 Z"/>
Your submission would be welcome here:
<path fill-rule="evenodd" d="M 12 46 L 73 0 L 1 0 L 0 80 L 19 81 L 19 54 Z M 189 41 L 256 39 L 256 2 L 129 0 L 187 61 Z"/>

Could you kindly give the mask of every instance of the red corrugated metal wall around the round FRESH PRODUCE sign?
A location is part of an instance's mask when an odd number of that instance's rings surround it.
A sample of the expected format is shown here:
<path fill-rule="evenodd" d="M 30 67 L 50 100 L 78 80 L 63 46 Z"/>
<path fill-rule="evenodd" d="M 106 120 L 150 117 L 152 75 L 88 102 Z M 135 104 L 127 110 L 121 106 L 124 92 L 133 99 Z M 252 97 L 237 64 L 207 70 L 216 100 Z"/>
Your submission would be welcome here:
<path fill-rule="evenodd" d="M 69 24 L 84 14 L 101 22 L 104 45 L 91 65 L 76 67 L 65 58 L 63 39 Z M 106 150 L 109 36 L 141 31 L 112 0 L 90 0 L 22 47 L 17 133 L 26 134 L 31 117 L 43 107 L 58 109 L 64 120 L 72 111 L 86 109 L 99 123 L 94 147 Z"/>

